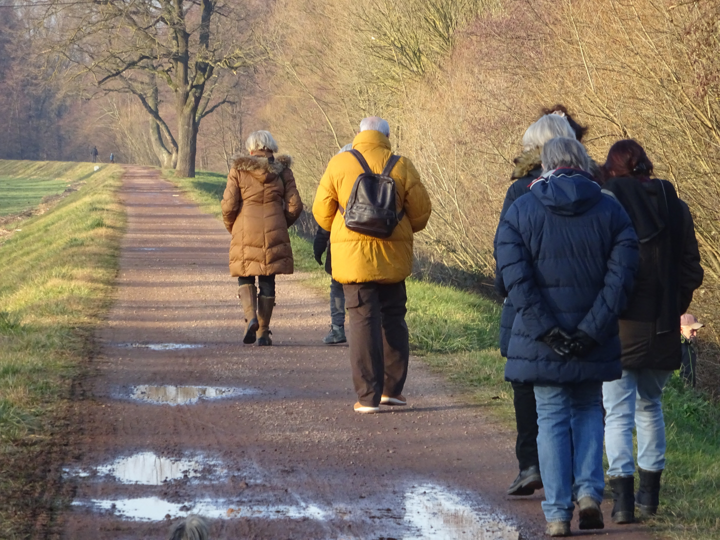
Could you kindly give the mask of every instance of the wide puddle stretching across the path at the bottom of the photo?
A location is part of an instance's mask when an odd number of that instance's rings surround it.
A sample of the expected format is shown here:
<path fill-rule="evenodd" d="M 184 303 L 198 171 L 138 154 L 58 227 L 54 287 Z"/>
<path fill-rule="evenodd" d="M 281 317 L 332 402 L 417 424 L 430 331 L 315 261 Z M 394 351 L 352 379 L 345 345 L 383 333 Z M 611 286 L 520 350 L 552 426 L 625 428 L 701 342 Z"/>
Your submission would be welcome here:
<path fill-rule="evenodd" d="M 381 495 L 382 496 L 382 495 Z M 374 505 L 373 505 L 374 503 Z M 200 498 L 186 502 L 171 502 L 158 497 L 124 499 L 93 499 L 76 501 L 81 506 L 100 513 L 109 513 L 129 521 L 163 521 L 191 513 L 210 519 L 294 519 L 323 522 L 358 523 L 376 531 L 375 536 L 397 540 L 518 540 L 515 526 L 507 518 L 471 502 L 468 495 L 460 495 L 438 485 L 419 485 L 405 490 L 402 507 L 397 501 L 364 501 L 362 506 L 338 505 L 327 507 L 307 503 L 272 505 L 258 501 Z M 368 505 L 373 505 L 369 508 Z M 391 508 L 378 508 L 392 505 Z"/>

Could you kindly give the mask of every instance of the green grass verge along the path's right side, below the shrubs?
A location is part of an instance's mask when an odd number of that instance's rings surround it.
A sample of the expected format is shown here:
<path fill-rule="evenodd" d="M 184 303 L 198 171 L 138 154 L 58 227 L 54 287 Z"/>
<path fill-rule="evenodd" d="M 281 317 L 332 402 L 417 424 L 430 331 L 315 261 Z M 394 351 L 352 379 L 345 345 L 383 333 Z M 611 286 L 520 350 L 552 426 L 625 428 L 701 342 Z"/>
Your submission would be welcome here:
<path fill-rule="evenodd" d="M 220 217 L 225 175 L 174 179 L 202 210 Z M 312 243 L 291 234 L 295 268 L 310 271 L 308 284 L 326 292 L 329 277 L 312 258 Z M 492 406 L 513 426 L 512 391 L 503 382 L 495 346 L 500 307 L 477 294 L 408 280 L 408 327 L 415 354 L 466 391 Z M 329 320 L 329 313 L 328 313 Z M 661 510 L 647 524 L 662 537 L 711 540 L 720 536 L 720 405 L 688 390 L 675 376 L 665 391 L 667 469 Z M 510 482 L 508 478 L 508 483 Z"/>

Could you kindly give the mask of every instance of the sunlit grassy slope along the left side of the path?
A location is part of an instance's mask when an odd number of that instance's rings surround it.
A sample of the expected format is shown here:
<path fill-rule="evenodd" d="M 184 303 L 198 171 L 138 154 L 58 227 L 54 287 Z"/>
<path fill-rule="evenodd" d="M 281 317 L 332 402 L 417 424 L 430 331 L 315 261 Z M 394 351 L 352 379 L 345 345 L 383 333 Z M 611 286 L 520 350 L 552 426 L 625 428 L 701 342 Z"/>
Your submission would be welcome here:
<path fill-rule="evenodd" d="M 19 210 L 79 188 L 0 240 L 0 537 L 25 538 L 53 503 L 48 467 L 66 437 L 73 377 L 109 306 L 125 215 L 119 166 L 0 161 Z M 32 186 L 27 189 L 27 186 Z M 0 192 L 5 205 L 6 192 Z M 30 201 L 30 203 L 28 203 Z M 56 481 L 57 479 L 55 479 Z"/>

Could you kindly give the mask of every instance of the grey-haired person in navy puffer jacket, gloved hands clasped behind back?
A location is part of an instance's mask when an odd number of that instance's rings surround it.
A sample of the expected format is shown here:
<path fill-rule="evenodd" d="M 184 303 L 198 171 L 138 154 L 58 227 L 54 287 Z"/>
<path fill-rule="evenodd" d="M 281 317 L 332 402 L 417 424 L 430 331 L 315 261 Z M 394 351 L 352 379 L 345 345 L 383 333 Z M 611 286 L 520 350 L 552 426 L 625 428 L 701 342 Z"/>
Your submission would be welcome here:
<path fill-rule="evenodd" d="M 498 230 L 498 267 L 516 310 L 505 380 L 534 384 L 549 536 L 603 528 L 604 381 L 619 379 L 618 315 L 637 268 L 627 212 L 586 172 L 575 138 L 547 141 L 544 174 Z M 572 438 L 572 441 L 571 441 Z"/>

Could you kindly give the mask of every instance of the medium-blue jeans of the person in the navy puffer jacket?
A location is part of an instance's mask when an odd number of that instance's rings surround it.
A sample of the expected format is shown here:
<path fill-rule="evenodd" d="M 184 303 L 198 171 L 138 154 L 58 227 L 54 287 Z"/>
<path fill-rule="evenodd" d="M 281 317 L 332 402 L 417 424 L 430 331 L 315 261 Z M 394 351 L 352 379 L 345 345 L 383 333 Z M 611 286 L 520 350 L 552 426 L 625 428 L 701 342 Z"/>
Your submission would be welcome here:
<path fill-rule="evenodd" d="M 601 388 L 601 382 L 535 384 L 546 521 L 570 521 L 573 496 L 576 500 L 590 497 L 598 503 L 603 500 Z"/>

